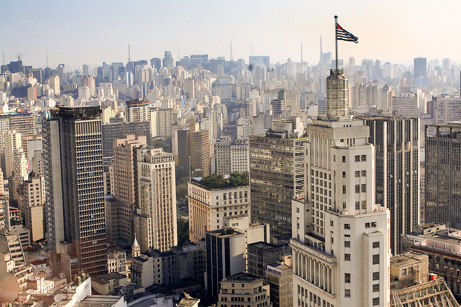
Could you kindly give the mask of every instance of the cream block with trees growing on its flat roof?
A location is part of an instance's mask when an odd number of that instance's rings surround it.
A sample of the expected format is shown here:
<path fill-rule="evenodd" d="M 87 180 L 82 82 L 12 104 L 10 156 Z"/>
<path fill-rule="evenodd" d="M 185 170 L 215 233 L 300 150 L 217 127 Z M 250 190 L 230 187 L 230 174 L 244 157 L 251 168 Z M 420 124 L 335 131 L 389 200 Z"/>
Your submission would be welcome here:
<path fill-rule="evenodd" d="M 249 194 L 249 185 L 212 189 L 198 179 L 187 183 L 190 240 L 198 243 L 205 232 L 223 228 L 225 217 L 250 216 Z"/>

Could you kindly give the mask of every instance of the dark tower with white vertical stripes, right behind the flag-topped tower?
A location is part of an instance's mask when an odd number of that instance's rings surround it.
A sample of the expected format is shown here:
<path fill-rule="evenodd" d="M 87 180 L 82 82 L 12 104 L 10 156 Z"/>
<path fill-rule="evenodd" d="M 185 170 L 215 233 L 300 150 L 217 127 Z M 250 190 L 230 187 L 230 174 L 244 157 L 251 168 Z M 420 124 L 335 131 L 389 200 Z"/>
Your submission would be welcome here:
<path fill-rule="evenodd" d="M 368 140 L 374 145 L 375 202 L 390 211 L 390 247 L 398 255 L 403 252 L 402 234 L 412 232 L 420 221 L 420 119 L 361 119 L 370 127 Z"/>

